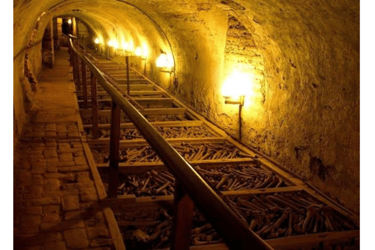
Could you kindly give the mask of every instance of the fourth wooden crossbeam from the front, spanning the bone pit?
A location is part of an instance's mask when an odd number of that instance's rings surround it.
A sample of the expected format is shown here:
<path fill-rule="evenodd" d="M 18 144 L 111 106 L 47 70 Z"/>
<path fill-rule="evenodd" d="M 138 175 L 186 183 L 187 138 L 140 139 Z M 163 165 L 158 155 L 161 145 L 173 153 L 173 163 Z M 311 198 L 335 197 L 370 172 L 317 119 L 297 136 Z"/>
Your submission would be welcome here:
<path fill-rule="evenodd" d="M 223 143 L 227 139 L 224 137 L 198 137 L 198 138 L 166 138 L 167 142 L 170 144 L 176 143 L 190 143 L 190 144 L 197 144 L 197 143 Z M 97 139 L 97 140 L 88 140 L 88 143 L 91 147 L 95 146 L 108 146 L 110 144 L 110 140 L 105 139 Z M 129 148 L 129 147 L 137 147 L 137 146 L 148 146 L 148 143 L 145 139 L 133 139 L 133 140 L 121 140 L 120 141 L 120 148 Z"/>

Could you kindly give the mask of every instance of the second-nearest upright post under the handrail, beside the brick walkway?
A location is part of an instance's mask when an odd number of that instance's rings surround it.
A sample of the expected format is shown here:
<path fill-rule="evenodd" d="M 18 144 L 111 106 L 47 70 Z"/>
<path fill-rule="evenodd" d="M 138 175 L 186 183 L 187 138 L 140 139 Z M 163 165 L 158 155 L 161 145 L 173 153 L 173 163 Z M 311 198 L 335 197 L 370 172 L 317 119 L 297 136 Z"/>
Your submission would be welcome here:
<path fill-rule="evenodd" d="M 118 169 L 120 161 L 121 108 L 112 100 L 111 134 L 109 139 L 109 198 L 117 197 Z"/>

